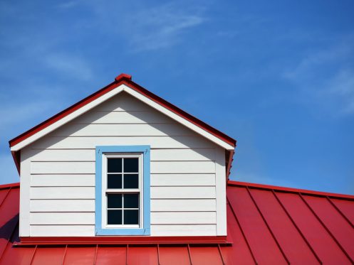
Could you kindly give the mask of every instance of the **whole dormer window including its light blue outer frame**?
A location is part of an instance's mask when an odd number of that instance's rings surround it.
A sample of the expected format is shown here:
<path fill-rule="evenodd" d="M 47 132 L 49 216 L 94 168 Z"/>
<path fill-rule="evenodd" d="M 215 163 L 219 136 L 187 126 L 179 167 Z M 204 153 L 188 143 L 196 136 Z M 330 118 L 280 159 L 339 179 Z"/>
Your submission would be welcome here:
<path fill-rule="evenodd" d="M 95 234 L 150 235 L 150 146 L 95 151 Z"/>

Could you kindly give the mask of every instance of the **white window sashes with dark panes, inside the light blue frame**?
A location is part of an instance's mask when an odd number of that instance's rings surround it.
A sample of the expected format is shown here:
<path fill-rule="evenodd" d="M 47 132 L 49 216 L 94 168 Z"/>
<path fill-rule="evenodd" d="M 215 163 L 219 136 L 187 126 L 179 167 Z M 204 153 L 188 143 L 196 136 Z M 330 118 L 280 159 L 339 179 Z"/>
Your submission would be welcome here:
<path fill-rule="evenodd" d="M 142 168 L 142 153 L 103 153 L 103 227 L 142 227 Z"/>

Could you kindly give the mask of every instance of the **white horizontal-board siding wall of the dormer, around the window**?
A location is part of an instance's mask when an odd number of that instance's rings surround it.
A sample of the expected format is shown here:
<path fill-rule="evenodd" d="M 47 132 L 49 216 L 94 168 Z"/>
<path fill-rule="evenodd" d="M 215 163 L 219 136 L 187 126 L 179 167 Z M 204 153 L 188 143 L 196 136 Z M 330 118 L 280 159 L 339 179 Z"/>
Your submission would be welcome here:
<path fill-rule="evenodd" d="M 121 92 L 21 149 L 21 237 L 95 236 L 95 146 L 149 145 L 150 236 L 224 236 L 224 149 Z"/>

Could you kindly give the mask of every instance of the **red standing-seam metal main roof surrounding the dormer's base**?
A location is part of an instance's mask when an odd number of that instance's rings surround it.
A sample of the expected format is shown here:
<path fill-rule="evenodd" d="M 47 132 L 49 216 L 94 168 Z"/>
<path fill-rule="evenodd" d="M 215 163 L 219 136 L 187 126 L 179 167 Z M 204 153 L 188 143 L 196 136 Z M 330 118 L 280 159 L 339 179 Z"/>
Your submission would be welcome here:
<path fill-rule="evenodd" d="M 224 244 L 19 242 L 19 183 L 0 186 L 0 264 L 353 264 L 354 196 L 229 181 Z"/>

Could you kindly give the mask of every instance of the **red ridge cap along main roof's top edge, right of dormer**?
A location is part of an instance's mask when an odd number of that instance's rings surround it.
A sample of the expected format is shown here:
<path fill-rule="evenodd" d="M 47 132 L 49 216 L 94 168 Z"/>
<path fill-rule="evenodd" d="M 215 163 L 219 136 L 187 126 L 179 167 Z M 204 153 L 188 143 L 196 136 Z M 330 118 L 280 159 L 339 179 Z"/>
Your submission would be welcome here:
<path fill-rule="evenodd" d="M 241 186 L 241 187 L 250 187 L 250 188 L 260 188 L 264 190 L 276 190 L 280 192 L 288 192 L 288 193 L 301 193 L 305 195 L 317 195 L 323 197 L 331 197 L 331 198 L 341 198 L 341 199 L 349 199 L 354 200 L 354 195 L 340 194 L 340 193 L 325 193 L 316 190 L 302 190 L 298 188 L 286 188 L 281 186 L 273 186 L 273 185 L 265 185 L 265 184 L 256 184 L 256 183 L 247 183 L 235 180 L 229 180 L 227 185 L 230 186 Z"/>

